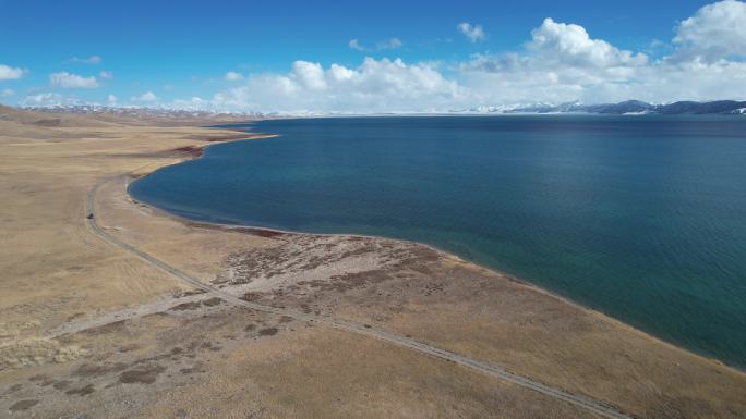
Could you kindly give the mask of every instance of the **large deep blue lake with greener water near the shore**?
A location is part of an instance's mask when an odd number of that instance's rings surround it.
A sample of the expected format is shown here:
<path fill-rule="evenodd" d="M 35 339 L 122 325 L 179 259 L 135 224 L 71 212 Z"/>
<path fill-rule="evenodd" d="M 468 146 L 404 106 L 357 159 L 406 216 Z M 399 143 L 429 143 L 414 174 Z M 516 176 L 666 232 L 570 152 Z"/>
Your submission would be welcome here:
<path fill-rule="evenodd" d="M 746 118 L 252 128 L 280 137 L 213 146 L 130 193 L 202 221 L 429 243 L 746 366 Z"/>

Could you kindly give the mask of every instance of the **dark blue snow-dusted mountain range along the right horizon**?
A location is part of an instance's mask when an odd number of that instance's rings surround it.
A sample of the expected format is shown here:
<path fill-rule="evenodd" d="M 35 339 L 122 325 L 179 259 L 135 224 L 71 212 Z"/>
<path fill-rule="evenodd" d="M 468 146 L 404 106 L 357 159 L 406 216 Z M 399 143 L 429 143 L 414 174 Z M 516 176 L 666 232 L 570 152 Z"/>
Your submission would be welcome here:
<path fill-rule="evenodd" d="M 603 104 L 532 104 L 517 107 L 480 107 L 466 110 L 468 113 L 601 113 L 624 114 L 746 114 L 746 101 L 717 100 L 712 102 L 681 101 L 667 104 L 650 104 L 639 100 Z"/>

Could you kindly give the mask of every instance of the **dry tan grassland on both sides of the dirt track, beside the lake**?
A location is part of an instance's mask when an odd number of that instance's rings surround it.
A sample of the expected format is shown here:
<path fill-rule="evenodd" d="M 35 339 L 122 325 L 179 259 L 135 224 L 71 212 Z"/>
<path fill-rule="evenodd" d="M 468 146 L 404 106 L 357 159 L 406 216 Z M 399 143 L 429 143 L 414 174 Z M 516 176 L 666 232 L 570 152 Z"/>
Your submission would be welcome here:
<path fill-rule="evenodd" d="M 742 418 L 746 377 L 430 247 L 185 222 L 131 180 L 229 131 L 4 110 L 0 417 L 598 417 L 453 362 L 195 291 L 118 239 L 248 301 L 340 319 L 636 417 Z M 177 125 L 177 126 L 173 126 Z"/>

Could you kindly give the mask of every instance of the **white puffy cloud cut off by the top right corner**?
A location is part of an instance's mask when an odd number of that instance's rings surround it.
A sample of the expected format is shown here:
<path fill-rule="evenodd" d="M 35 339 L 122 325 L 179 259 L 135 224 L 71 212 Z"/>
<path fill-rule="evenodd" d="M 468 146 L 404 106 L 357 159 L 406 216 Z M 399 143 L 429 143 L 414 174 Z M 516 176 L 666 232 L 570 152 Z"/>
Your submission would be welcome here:
<path fill-rule="evenodd" d="M 724 0 L 708 4 L 683 21 L 673 41 L 676 60 L 746 58 L 746 3 Z"/>

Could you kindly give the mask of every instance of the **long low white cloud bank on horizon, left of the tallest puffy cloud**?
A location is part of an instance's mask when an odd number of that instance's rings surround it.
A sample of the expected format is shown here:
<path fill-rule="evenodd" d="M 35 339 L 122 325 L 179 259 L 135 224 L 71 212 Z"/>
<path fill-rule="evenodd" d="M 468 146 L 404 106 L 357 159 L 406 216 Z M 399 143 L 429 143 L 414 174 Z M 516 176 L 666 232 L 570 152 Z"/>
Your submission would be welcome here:
<path fill-rule="evenodd" d="M 365 58 L 357 67 L 296 61 L 286 74 L 261 74 L 215 95 L 219 109 L 376 112 L 442 108 L 458 100 L 458 84 L 429 63 Z"/>

